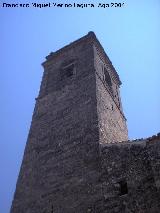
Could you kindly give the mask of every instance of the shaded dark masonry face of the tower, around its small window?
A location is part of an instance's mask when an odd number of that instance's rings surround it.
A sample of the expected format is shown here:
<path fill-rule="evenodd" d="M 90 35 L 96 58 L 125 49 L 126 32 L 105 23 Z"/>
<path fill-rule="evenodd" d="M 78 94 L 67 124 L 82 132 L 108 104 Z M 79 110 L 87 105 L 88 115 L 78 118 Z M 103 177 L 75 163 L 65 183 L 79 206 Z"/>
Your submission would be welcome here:
<path fill-rule="evenodd" d="M 71 61 L 74 75 L 61 80 L 62 66 Z M 88 40 L 44 64 L 12 213 L 81 213 L 99 199 L 93 64 Z"/>

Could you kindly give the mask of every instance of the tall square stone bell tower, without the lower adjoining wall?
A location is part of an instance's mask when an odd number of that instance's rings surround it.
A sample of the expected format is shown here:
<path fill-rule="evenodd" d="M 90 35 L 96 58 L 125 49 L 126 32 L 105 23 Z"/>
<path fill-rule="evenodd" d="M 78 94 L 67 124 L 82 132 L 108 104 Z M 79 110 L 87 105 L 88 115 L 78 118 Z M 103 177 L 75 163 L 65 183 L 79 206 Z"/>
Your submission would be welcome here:
<path fill-rule="evenodd" d="M 102 196 L 99 145 L 128 139 L 121 81 L 93 32 L 42 65 L 11 213 L 89 212 Z"/>

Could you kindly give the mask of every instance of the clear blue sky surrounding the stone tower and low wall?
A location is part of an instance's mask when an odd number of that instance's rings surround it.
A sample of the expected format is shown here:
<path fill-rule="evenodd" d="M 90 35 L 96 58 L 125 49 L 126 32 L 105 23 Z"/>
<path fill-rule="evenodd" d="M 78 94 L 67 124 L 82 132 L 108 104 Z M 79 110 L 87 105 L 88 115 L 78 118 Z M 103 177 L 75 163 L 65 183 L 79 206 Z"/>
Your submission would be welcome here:
<path fill-rule="evenodd" d="M 3 8 L 0 2 L 0 212 L 8 213 L 43 74 L 41 63 L 88 31 L 95 32 L 120 75 L 129 138 L 160 131 L 160 1 L 124 0 L 117 1 L 124 2 L 122 8 L 83 9 Z"/>

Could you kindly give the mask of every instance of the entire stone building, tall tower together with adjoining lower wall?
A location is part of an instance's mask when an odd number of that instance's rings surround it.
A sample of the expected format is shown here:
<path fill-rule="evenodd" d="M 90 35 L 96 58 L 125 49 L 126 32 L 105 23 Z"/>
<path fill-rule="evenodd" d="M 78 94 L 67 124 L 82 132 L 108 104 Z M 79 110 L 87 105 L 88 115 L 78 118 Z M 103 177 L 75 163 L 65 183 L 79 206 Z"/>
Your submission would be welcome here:
<path fill-rule="evenodd" d="M 94 33 L 46 59 L 11 213 L 158 212 L 159 136 L 122 142 L 121 81 Z"/>

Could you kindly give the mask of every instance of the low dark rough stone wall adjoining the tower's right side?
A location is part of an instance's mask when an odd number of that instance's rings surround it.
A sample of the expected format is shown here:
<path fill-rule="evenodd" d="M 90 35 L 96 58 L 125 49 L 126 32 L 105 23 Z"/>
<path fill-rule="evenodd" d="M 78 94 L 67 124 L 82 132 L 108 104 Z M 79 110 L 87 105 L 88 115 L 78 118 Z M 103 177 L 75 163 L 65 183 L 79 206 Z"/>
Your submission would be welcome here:
<path fill-rule="evenodd" d="M 102 146 L 101 162 L 103 212 L 160 212 L 160 137 Z"/>

